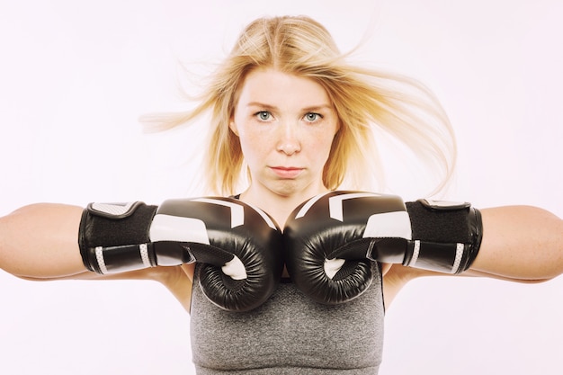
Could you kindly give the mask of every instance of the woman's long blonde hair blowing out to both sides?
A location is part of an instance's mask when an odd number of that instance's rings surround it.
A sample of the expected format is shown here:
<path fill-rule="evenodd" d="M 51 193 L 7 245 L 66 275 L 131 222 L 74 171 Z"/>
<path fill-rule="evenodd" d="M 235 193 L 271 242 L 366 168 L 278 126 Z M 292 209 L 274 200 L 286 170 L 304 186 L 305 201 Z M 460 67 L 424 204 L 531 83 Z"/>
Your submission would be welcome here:
<path fill-rule="evenodd" d="M 228 123 L 246 75 L 257 67 L 308 77 L 326 89 L 341 127 L 326 162 L 323 183 L 334 190 L 346 183 L 368 188 L 379 178 L 374 129 L 397 138 L 417 156 L 451 176 L 456 147 L 450 122 L 433 94 L 416 80 L 346 62 L 326 28 L 306 16 L 261 18 L 240 34 L 235 47 L 210 76 L 210 84 L 189 112 L 149 116 L 146 129 L 170 129 L 210 112 L 205 160 L 211 192 L 237 192 L 246 172 L 237 136 Z"/>

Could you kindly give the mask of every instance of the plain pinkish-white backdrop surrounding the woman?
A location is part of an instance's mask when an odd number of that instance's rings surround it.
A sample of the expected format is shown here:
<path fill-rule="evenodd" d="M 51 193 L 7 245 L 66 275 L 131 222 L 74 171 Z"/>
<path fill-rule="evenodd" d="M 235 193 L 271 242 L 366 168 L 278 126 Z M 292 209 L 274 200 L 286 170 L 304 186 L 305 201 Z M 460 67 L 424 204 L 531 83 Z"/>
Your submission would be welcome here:
<path fill-rule="evenodd" d="M 460 147 L 444 198 L 563 217 L 557 0 L 1 1 L 0 215 L 195 194 L 202 128 L 147 136 L 138 116 L 183 105 L 176 58 L 216 61 L 255 17 L 302 13 L 344 50 L 369 32 L 359 60 L 440 97 Z M 407 198 L 426 192 L 395 181 Z M 414 281 L 389 308 L 380 373 L 560 374 L 562 296 L 562 278 Z M 3 374 L 192 373 L 189 335 L 189 315 L 156 283 L 0 272 Z"/>

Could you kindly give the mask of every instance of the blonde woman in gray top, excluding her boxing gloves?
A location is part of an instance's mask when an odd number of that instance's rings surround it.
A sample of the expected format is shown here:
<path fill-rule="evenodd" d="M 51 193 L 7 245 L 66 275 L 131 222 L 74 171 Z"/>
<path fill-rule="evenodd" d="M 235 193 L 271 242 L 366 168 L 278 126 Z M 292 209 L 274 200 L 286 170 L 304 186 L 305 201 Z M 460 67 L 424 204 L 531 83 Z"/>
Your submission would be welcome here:
<path fill-rule="evenodd" d="M 210 192 L 263 210 L 281 230 L 312 197 L 373 192 L 374 129 L 440 166 L 444 180 L 453 168 L 451 127 L 433 96 L 405 77 L 348 64 L 326 29 L 307 17 L 249 24 L 200 99 L 191 112 L 147 117 L 147 128 L 171 128 L 210 112 Z M 479 212 L 478 253 L 463 275 L 537 282 L 563 271 L 561 219 L 524 206 Z M 163 282 L 191 312 L 193 362 L 201 374 L 377 373 L 384 309 L 407 281 L 437 274 L 376 259 L 360 296 L 323 304 L 290 281 L 296 275 L 286 259 L 291 269 L 281 271 L 267 299 L 248 311 L 228 311 L 197 287 L 202 262 L 88 271 L 77 238 L 84 215 L 82 207 L 38 204 L 2 218 L 0 266 L 30 280 Z"/>

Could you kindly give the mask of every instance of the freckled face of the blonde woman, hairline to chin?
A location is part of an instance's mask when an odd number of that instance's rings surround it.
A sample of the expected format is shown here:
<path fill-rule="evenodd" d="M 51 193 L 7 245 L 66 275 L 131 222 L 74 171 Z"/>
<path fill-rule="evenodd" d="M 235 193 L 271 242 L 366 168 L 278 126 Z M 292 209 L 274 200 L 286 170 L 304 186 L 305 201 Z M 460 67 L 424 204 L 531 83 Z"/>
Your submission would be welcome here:
<path fill-rule="evenodd" d="M 249 73 L 230 122 L 252 176 L 249 192 L 307 197 L 325 192 L 323 167 L 338 127 L 317 82 L 273 68 Z"/>

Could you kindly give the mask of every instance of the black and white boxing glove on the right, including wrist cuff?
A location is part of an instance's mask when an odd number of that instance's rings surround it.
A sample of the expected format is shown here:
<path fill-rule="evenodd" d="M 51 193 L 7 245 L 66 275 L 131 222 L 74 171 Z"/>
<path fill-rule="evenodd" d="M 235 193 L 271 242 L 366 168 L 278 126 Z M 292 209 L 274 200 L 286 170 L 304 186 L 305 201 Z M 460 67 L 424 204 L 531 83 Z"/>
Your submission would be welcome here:
<path fill-rule="evenodd" d="M 328 192 L 302 203 L 283 231 L 291 279 L 312 299 L 343 303 L 371 284 L 371 261 L 460 273 L 475 260 L 483 226 L 469 203 Z"/>

